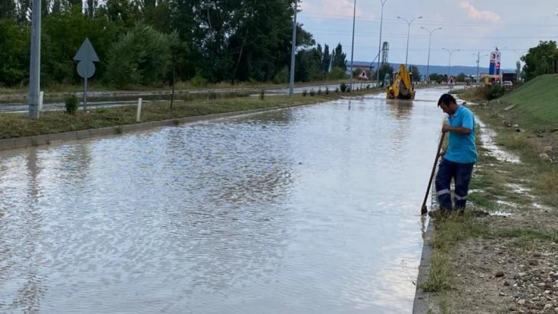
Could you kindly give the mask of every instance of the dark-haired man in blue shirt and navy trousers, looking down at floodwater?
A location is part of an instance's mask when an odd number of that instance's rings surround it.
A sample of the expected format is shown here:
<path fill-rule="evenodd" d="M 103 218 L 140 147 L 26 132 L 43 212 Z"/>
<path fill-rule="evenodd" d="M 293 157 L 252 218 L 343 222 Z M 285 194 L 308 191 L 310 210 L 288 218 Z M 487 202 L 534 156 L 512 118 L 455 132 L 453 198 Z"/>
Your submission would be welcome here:
<path fill-rule="evenodd" d="M 438 107 L 448 114 L 442 132 L 448 133 L 448 148 L 441 152 L 436 175 L 436 193 L 441 213 L 451 212 L 450 184 L 455 181 L 455 209 L 463 212 L 467 201 L 473 165 L 477 162 L 475 146 L 475 117 L 471 110 L 458 105 L 450 94 L 438 100 Z"/>

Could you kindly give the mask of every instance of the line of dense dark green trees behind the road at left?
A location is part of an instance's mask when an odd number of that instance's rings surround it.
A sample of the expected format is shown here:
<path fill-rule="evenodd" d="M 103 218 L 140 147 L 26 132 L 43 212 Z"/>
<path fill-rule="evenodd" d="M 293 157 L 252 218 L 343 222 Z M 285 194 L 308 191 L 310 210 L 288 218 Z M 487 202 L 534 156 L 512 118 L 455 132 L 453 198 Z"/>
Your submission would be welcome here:
<path fill-rule="evenodd" d="M 41 84 L 79 84 L 73 57 L 88 37 L 103 85 L 287 83 L 292 0 L 41 0 Z M 301 1 L 301 0 L 297 0 Z M 0 0 L 0 85 L 28 83 L 31 1 Z M 343 79 L 346 54 L 297 25 L 296 81 Z"/>

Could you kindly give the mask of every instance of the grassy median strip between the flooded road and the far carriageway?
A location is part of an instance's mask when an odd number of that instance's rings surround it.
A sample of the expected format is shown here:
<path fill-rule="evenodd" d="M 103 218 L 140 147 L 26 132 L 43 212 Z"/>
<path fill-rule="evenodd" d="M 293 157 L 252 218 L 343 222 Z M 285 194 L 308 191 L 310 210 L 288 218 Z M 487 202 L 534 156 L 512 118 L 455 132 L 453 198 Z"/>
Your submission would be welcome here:
<path fill-rule="evenodd" d="M 283 107 L 286 105 L 304 105 L 326 102 L 347 96 L 357 96 L 376 92 L 376 89 L 353 91 L 352 93 L 334 93 L 326 95 L 302 96 L 295 94 L 291 99 L 288 95 L 259 97 L 235 97 L 217 99 L 192 99 L 174 103 L 170 109 L 169 102 L 144 104 L 142 106 L 142 122 L 194 117 L 199 115 L 235 112 L 251 109 Z M 92 128 L 117 127 L 136 123 L 136 105 L 129 107 L 113 107 L 92 109 L 90 113 L 78 110 L 75 115 L 61 111 L 42 112 L 38 120 L 27 118 L 26 114 L 0 114 L 0 139 L 36 136 Z"/>

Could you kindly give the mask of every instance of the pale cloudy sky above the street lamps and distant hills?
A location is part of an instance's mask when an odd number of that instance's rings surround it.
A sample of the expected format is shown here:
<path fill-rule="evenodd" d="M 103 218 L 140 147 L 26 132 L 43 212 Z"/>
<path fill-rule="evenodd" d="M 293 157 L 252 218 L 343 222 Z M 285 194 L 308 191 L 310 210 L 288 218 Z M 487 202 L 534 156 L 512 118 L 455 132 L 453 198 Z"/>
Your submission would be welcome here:
<path fill-rule="evenodd" d="M 357 0 L 354 60 L 372 61 L 378 54 L 381 0 Z M 298 21 L 317 42 L 330 47 L 339 42 L 347 52 L 353 29 L 353 0 L 303 0 Z M 539 40 L 558 40 L 556 0 L 387 0 L 384 5 L 382 41 L 389 42 L 389 61 L 405 63 L 407 22 L 412 20 L 409 64 L 427 63 L 429 32 L 432 33 L 430 64 L 488 67 L 490 51 L 502 51 L 502 68 L 514 69 L 519 56 Z M 483 56 L 484 55 L 484 56 Z"/>

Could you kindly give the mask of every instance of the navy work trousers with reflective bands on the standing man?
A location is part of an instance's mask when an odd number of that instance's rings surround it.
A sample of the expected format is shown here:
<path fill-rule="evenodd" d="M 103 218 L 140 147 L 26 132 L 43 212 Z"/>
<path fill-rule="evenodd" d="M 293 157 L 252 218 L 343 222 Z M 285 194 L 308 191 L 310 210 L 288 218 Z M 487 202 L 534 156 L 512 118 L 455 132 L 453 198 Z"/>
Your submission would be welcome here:
<path fill-rule="evenodd" d="M 441 211 L 465 210 L 473 166 L 474 163 L 458 163 L 442 157 L 435 183 Z M 455 182 L 455 207 L 451 206 L 451 179 Z"/>

